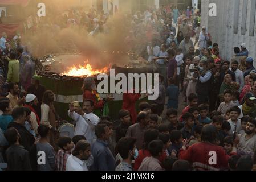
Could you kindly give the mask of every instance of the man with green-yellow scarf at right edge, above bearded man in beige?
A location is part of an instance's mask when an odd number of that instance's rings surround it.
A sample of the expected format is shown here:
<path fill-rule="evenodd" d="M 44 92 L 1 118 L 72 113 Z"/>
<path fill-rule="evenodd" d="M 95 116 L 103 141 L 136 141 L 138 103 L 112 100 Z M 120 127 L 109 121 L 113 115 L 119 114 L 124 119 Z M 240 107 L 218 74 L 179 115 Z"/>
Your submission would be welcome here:
<path fill-rule="evenodd" d="M 253 93 L 249 92 L 245 95 L 245 103 L 239 106 L 239 109 L 241 109 L 241 114 L 239 116 L 239 119 L 241 119 L 244 115 L 249 115 L 253 119 L 256 118 L 255 100 L 256 98 L 254 97 Z"/>

